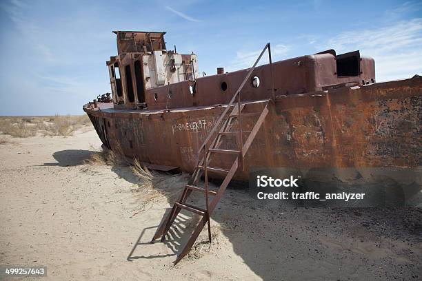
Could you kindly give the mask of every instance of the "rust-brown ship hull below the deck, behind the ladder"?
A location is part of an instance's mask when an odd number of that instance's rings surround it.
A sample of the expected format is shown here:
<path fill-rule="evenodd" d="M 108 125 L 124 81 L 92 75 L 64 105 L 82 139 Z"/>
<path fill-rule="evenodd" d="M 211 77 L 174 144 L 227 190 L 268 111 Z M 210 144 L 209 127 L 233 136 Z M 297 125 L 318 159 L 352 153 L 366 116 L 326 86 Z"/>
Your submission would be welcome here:
<path fill-rule="evenodd" d="M 261 112 L 266 103 L 246 103 L 243 112 Z M 190 173 L 224 105 L 170 112 L 84 110 L 106 147 L 144 163 Z M 248 180 L 254 167 L 285 167 L 321 181 L 333 176 L 366 182 L 412 178 L 420 186 L 421 112 L 421 78 L 278 96 L 245 156 L 244 169 L 234 179 Z M 243 131 L 250 131 L 256 118 L 243 118 Z M 237 126 L 234 123 L 232 130 L 237 131 Z M 239 147 L 237 137 L 227 138 L 222 148 Z M 230 157 L 214 156 L 210 166 L 230 167 Z"/>

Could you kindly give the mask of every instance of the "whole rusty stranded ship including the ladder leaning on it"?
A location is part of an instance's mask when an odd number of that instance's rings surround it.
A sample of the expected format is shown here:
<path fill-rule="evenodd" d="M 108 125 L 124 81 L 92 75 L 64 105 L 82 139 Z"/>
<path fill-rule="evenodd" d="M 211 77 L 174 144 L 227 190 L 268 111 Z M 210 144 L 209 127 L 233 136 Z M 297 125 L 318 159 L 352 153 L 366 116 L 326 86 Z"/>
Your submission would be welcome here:
<path fill-rule="evenodd" d="M 253 167 L 298 169 L 321 181 L 388 178 L 420 190 L 421 76 L 376 83 L 374 59 L 359 51 L 273 62 L 268 43 L 252 67 L 200 77 L 197 55 L 166 48 L 165 32 L 114 33 L 111 94 L 83 110 L 108 149 L 192 174 L 152 239 L 165 240 L 181 209 L 199 214 L 176 262 L 207 224 L 211 239 L 212 211 L 230 181 L 248 180 Z M 208 178 L 221 178 L 219 189 Z M 205 207 L 188 204 L 192 192 Z"/>

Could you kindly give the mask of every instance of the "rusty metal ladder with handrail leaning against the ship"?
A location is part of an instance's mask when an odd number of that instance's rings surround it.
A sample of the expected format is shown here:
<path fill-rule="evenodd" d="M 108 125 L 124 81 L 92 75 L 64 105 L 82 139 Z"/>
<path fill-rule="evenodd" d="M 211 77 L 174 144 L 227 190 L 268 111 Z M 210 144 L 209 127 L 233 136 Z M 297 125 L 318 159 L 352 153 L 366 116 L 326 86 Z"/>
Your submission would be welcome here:
<path fill-rule="evenodd" d="M 245 77 L 243 82 L 241 83 L 239 89 L 232 97 L 230 103 L 228 103 L 227 107 L 219 117 L 216 125 L 212 128 L 210 134 L 208 134 L 208 137 L 205 139 L 201 147 L 199 148 L 198 155 L 202 155 L 202 158 L 199 158 L 199 161 L 197 163 L 197 166 L 194 169 L 194 172 L 188 181 L 188 185 L 185 186 L 183 189 L 183 192 L 181 194 L 181 197 L 177 202 L 174 203 L 172 210 L 170 211 L 170 214 L 168 214 L 167 218 L 163 220 L 159 228 L 157 229 L 156 233 L 154 234 L 154 237 L 152 238 L 151 242 L 154 242 L 154 240 L 157 240 L 161 237 L 161 242 L 165 240 L 165 235 L 168 233 L 172 223 L 174 222 L 175 218 L 181 211 L 181 209 L 185 209 L 187 211 L 191 211 L 192 213 L 198 214 L 201 216 L 201 220 L 199 221 L 199 224 L 194 229 L 192 235 L 190 236 L 190 239 L 185 244 L 185 247 L 183 247 L 182 251 L 179 253 L 179 256 L 177 256 L 177 259 L 174 261 L 174 264 L 177 264 L 186 254 L 189 253 L 191 247 L 193 246 L 194 242 L 197 240 L 197 237 L 199 236 L 199 233 L 201 233 L 203 227 L 205 227 L 205 224 L 208 225 L 208 238 L 211 242 L 211 227 L 210 227 L 210 215 L 212 214 L 212 211 L 214 211 L 215 207 L 217 207 L 217 203 L 219 202 L 221 196 L 223 196 L 225 189 L 228 187 L 228 184 L 232 180 L 234 174 L 236 173 L 239 166 L 243 169 L 243 162 L 245 154 L 248 152 L 248 149 L 250 145 L 252 144 L 252 141 L 254 140 L 255 136 L 257 136 L 257 133 L 259 132 L 259 129 L 261 128 L 261 125 L 263 124 L 265 120 L 265 116 L 267 116 L 269 110 L 268 110 L 268 100 L 265 103 L 265 107 L 261 112 L 252 112 L 252 113 L 246 113 L 242 114 L 242 110 L 245 107 L 244 104 L 241 103 L 241 90 L 245 83 L 250 78 L 250 75 L 252 74 L 254 68 L 257 66 L 257 63 L 263 56 L 263 53 L 265 50 L 268 49 L 268 56 L 270 59 L 270 67 L 271 67 L 271 79 L 272 79 L 272 61 L 271 61 L 271 49 L 270 49 L 270 43 L 267 43 L 265 45 L 265 48 L 262 50 L 261 54 L 259 55 L 257 61 L 255 61 L 252 68 L 250 68 L 248 75 Z M 272 98 L 274 98 L 274 81 L 272 79 Z M 236 101 L 236 103 L 235 103 Z M 228 114 L 230 112 L 230 114 Z M 259 116 L 257 121 L 254 123 L 254 127 L 252 128 L 252 131 L 245 132 L 242 129 L 242 116 Z M 239 131 L 232 132 L 230 129 L 232 128 L 232 121 L 237 120 Z M 249 134 L 246 138 L 246 141 L 243 143 L 243 134 Z M 225 136 L 228 135 L 234 135 L 238 136 L 239 140 L 239 149 L 220 149 L 220 145 L 223 142 L 223 139 Z M 210 158 L 212 154 L 232 154 L 236 156 L 235 160 L 232 162 L 232 166 L 230 169 L 223 169 L 221 167 L 210 167 L 208 166 L 208 163 L 210 163 Z M 208 189 L 208 171 L 218 174 L 225 174 L 225 178 L 223 180 L 223 183 L 221 183 L 219 189 L 217 191 L 212 191 Z M 201 178 L 201 175 L 204 176 L 205 185 L 204 187 L 199 187 L 197 185 L 199 179 Z M 192 191 L 197 191 L 205 194 L 205 209 L 196 207 L 193 205 L 190 205 L 186 203 L 186 200 L 192 194 Z M 209 202 L 209 196 L 214 196 L 212 198 L 211 202 Z"/>

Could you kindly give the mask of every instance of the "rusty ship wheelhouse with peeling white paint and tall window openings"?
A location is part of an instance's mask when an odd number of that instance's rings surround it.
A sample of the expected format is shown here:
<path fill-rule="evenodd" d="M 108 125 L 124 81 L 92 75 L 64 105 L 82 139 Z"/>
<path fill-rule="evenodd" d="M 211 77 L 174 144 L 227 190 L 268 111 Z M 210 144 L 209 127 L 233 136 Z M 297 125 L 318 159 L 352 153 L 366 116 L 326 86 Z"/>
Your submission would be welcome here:
<path fill-rule="evenodd" d="M 166 50 L 165 32 L 114 31 L 114 34 L 118 54 L 106 64 L 115 108 L 145 108 L 148 90 L 198 77 L 197 55 Z M 159 98 L 158 94 L 153 97 L 155 101 Z"/>

